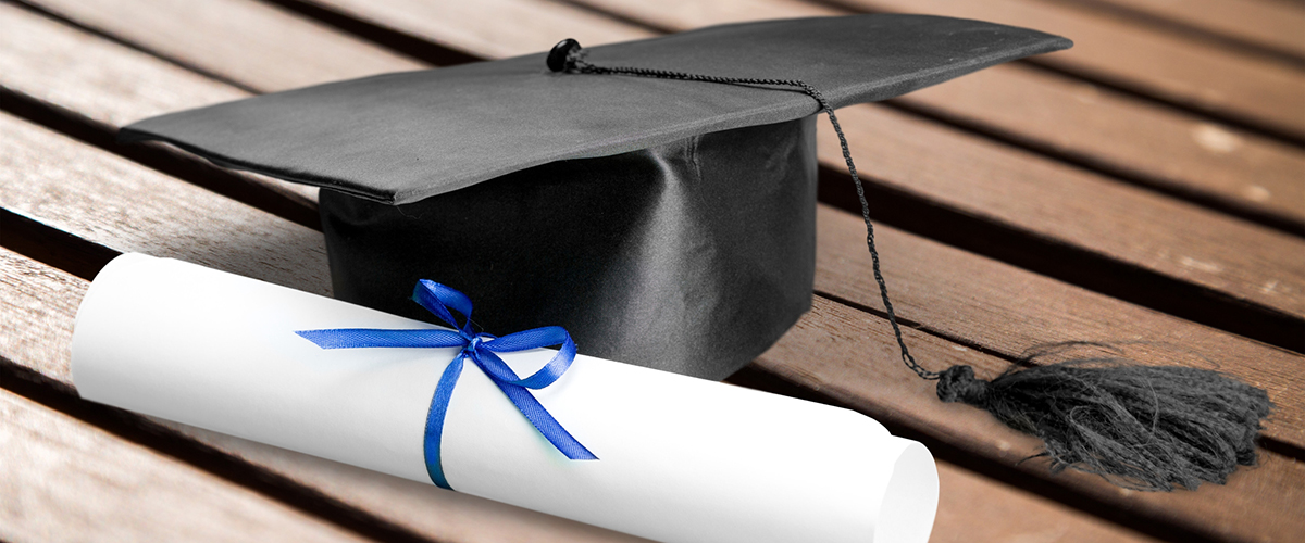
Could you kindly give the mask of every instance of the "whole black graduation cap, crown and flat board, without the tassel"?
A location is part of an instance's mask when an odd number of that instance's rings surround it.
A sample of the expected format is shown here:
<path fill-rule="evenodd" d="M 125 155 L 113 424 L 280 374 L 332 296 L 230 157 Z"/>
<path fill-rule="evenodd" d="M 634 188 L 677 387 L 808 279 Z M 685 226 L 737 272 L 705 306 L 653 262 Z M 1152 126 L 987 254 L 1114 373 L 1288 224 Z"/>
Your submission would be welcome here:
<path fill-rule="evenodd" d="M 586 61 L 800 79 L 837 108 L 1069 46 L 869 14 L 715 26 Z M 487 332 L 562 326 L 582 353 L 720 379 L 810 306 L 818 111 L 792 89 L 561 73 L 539 53 L 256 96 L 119 137 L 328 189 L 338 298 L 424 318 L 406 298 L 433 279 L 466 292 Z"/>

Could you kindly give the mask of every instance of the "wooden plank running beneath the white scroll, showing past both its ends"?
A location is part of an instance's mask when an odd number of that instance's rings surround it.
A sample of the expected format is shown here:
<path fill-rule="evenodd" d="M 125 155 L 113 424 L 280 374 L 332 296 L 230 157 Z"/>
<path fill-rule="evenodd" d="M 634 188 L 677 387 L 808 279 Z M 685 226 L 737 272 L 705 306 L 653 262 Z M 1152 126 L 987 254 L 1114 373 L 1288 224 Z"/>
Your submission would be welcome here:
<path fill-rule="evenodd" d="M 0 339 L 0 355 L 72 385 L 67 345 L 72 337 L 76 306 L 86 286 L 85 280 L 0 249 L 0 288 L 5 290 L 0 315 L 5 322 L 17 324 L 14 329 L 21 332 L 17 339 Z M 159 422 L 277 473 L 296 474 L 300 480 L 317 479 L 317 488 L 331 496 L 352 496 L 355 504 L 372 507 L 384 504 L 393 517 L 420 522 L 423 533 L 436 535 L 440 540 L 560 540 L 552 539 L 548 535 L 551 533 L 576 536 L 574 526 L 553 517 L 522 520 L 521 517 L 532 513 L 238 438 Z M 1151 540 L 947 462 L 938 464 L 938 475 L 942 497 L 934 542 L 1005 542 L 1010 538 L 1032 540 L 1064 534 L 1066 530 L 1083 542 Z M 990 518 L 1000 522 L 988 522 Z M 522 530 L 521 525 L 532 531 Z M 512 531 L 513 527 L 518 531 Z"/>

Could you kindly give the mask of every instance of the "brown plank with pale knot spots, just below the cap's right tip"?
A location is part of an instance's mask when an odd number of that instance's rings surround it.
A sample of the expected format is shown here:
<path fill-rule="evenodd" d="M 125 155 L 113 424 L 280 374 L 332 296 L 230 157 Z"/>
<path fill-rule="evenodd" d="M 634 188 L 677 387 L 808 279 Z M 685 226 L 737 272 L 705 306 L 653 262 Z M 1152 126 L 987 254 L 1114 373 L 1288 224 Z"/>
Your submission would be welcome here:
<path fill-rule="evenodd" d="M 582 0 L 671 31 L 846 14 L 799 0 Z M 897 103 L 1043 152 L 1305 230 L 1305 152 L 1202 116 L 1023 65 L 1002 65 Z"/>

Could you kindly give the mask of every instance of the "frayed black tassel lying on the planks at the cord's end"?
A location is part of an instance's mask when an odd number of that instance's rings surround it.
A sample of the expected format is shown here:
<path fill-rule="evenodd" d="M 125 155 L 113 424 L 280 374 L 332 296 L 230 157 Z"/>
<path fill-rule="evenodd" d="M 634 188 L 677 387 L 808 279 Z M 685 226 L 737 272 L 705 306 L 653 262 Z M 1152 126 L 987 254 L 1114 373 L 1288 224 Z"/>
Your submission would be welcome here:
<path fill-rule="evenodd" d="M 1052 471 L 1073 467 L 1148 491 L 1224 483 L 1255 464 L 1255 436 L 1272 402 L 1219 371 L 1087 358 L 992 382 L 970 366 L 940 374 L 938 398 L 983 408 L 1045 443 Z"/>

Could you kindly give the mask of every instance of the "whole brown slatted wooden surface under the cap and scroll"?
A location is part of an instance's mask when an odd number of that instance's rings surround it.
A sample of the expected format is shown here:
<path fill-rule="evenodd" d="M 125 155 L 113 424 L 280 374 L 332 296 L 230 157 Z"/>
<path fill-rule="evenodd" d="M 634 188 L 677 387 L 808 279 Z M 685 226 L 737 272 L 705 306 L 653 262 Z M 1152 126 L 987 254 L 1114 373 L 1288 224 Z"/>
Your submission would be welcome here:
<path fill-rule="evenodd" d="M 737 384 L 844 405 L 938 458 L 937 542 L 1305 540 L 1305 7 L 1297 0 L 25 0 L 0 4 L 0 538 L 633 540 L 81 401 L 77 305 L 121 251 L 328 294 L 316 193 L 161 146 L 146 116 L 381 72 L 728 21 L 924 12 L 1066 52 L 839 112 L 885 273 L 930 369 L 1103 341 L 1278 404 L 1259 465 L 1150 494 L 897 362 L 850 180 L 821 133 L 812 311 Z M 825 122 L 821 122 L 825 125 Z M 827 126 L 822 128 L 822 130 Z"/>

